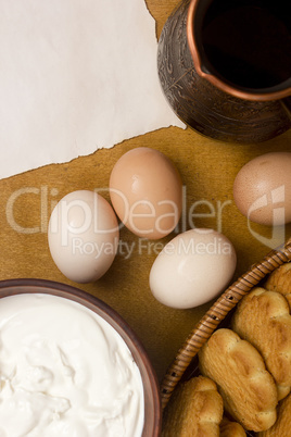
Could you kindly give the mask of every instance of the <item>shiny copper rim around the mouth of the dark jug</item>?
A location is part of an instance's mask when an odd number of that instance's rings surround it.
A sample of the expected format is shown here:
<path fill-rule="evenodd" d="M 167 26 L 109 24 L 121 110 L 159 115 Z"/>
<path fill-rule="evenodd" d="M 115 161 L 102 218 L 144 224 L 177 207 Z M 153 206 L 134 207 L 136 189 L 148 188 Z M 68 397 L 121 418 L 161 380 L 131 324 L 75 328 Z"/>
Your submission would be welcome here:
<path fill-rule="evenodd" d="M 190 4 L 188 8 L 188 13 L 187 13 L 187 25 L 186 25 L 186 32 L 187 32 L 187 41 L 189 46 L 189 50 L 193 60 L 193 64 L 195 67 L 195 71 L 200 77 L 205 78 L 208 80 L 212 85 L 214 85 L 216 88 L 231 95 L 235 97 L 238 97 L 240 99 L 244 100 L 252 100 L 252 101 L 270 101 L 270 100 L 279 100 L 283 99 L 286 97 L 291 96 L 291 86 L 288 84 L 290 83 L 290 79 L 283 82 L 281 85 L 287 84 L 286 87 L 278 89 L 278 86 L 273 86 L 270 88 L 243 88 L 243 87 L 238 87 L 235 84 L 232 85 L 229 82 L 223 80 L 219 78 L 217 75 L 215 75 L 213 72 L 210 72 L 204 65 L 202 61 L 202 55 L 199 51 L 199 47 L 195 40 L 194 36 L 194 26 L 192 25 L 194 15 L 198 10 L 198 4 L 199 1 L 201 0 L 190 0 Z"/>

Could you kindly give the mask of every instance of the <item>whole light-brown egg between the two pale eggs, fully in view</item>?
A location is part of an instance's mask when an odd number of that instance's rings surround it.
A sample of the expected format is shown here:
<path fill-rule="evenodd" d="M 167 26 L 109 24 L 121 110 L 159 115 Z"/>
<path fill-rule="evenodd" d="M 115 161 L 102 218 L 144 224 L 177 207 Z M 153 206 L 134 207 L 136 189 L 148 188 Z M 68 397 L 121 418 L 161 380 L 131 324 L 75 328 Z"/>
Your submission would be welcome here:
<path fill-rule="evenodd" d="M 116 162 L 110 196 L 121 221 L 140 237 L 168 235 L 181 214 L 180 175 L 167 157 L 151 148 L 132 149 Z"/>

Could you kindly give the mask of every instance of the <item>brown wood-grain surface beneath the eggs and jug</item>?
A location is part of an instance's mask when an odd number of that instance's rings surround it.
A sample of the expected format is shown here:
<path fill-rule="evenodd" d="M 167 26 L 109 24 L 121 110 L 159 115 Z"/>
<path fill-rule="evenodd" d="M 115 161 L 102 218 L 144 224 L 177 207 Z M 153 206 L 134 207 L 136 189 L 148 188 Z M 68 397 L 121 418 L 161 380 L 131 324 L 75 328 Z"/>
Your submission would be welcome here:
<path fill-rule="evenodd" d="M 177 1 L 147 3 L 156 20 L 159 36 Z M 0 180 L 0 279 L 58 280 L 104 300 L 138 334 L 161 379 L 211 302 L 191 310 L 174 310 L 159 303 L 149 289 L 149 272 L 160 245 L 141 244 L 125 228 L 121 239 L 134 245 L 132 254 L 126 259 L 118 253 L 111 270 L 93 284 L 77 285 L 66 279 L 54 265 L 47 241 L 48 220 L 56 201 L 76 189 L 106 188 L 114 163 L 123 153 L 140 146 L 164 152 L 177 165 L 185 186 L 180 230 L 203 226 L 224 233 L 237 250 L 237 277 L 270 250 L 262 237 L 270 241 L 273 235 L 264 226 L 248 226 L 233 202 L 233 179 L 240 167 L 258 154 L 291 151 L 291 132 L 264 143 L 239 146 L 205 138 L 190 128 L 163 128 L 69 163 L 47 165 Z M 107 192 L 104 197 L 109 200 Z M 190 208 L 195 213 L 192 217 L 188 216 Z M 204 216 L 199 217 L 199 213 Z M 290 225 L 284 230 L 286 237 L 290 237 Z"/>

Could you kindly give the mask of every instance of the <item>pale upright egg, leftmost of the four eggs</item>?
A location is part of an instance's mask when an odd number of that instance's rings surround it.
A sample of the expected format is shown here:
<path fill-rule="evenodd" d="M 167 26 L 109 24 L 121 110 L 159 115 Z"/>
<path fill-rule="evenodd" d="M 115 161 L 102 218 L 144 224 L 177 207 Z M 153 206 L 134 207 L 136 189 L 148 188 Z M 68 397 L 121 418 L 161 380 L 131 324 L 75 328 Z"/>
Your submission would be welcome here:
<path fill-rule="evenodd" d="M 119 241 L 117 217 L 97 192 L 73 191 L 52 211 L 48 240 L 60 271 L 76 283 L 90 283 L 114 261 Z"/>

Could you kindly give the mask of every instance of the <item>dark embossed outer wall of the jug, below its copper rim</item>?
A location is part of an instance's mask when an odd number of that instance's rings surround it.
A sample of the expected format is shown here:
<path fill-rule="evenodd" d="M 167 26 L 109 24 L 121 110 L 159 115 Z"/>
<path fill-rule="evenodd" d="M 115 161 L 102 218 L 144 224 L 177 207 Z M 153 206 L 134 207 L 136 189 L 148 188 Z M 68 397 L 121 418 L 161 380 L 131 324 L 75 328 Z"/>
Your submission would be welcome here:
<path fill-rule="evenodd" d="M 157 49 L 160 82 L 176 114 L 202 135 L 224 141 L 260 142 L 288 130 L 291 120 L 279 100 L 243 100 L 198 75 L 187 41 L 189 3 L 184 0 L 172 13 Z"/>

